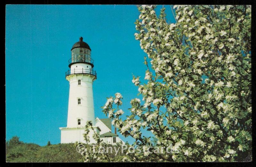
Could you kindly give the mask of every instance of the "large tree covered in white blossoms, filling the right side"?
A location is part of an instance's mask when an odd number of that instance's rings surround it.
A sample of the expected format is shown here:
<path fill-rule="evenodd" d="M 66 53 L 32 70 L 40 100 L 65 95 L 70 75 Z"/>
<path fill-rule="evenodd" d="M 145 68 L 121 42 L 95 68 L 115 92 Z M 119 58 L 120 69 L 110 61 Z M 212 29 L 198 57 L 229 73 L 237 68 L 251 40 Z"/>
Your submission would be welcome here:
<path fill-rule="evenodd" d="M 175 24 L 154 5 L 142 5 L 135 38 L 145 57 L 146 83 L 133 76 L 143 97 L 131 100 L 122 120 L 122 95 L 110 97 L 103 112 L 134 147 L 124 161 L 242 161 L 252 151 L 250 6 L 175 5 Z M 150 64 L 149 64 L 150 61 Z M 179 148 L 175 154 L 153 150 Z"/>

